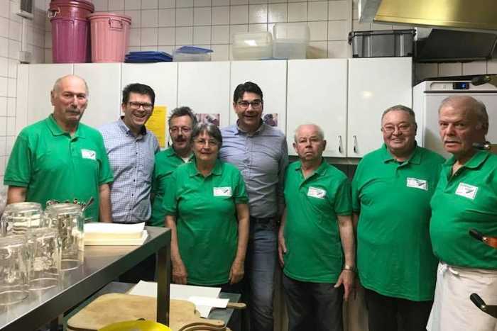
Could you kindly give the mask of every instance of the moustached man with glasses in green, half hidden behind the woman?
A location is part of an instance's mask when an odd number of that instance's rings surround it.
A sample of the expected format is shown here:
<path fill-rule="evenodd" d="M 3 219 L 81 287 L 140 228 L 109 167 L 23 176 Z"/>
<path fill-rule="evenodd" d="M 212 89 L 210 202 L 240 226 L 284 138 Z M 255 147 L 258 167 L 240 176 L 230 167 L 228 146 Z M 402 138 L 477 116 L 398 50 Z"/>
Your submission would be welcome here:
<path fill-rule="evenodd" d="M 183 106 L 173 109 L 168 120 L 169 135 L 173 145 L 167 150 L 155 154 L 155 169 L 152 181 L 152 217 L 148 225 L 164 226 L 165 210 L 163 199 L 167 190 L 167 182 L 178 166 L 192 159 L 190 137 L 197 118 L 192 109 Z"/>

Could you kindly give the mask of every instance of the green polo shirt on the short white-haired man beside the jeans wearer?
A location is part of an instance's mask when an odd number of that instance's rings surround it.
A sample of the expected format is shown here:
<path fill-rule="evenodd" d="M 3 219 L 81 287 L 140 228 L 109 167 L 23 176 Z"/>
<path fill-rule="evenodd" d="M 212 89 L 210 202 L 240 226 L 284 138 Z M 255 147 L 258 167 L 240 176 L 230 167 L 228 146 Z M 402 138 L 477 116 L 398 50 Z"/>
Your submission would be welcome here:
<path fill-rule="evenodd" d="M 336 283 L 344 254 L 337 215 L 351 215 L 350 184 L 345 174 L 323 161 L 304 178 L 300 161 L 285 178 L 286 276 L 297 281 Z"/>

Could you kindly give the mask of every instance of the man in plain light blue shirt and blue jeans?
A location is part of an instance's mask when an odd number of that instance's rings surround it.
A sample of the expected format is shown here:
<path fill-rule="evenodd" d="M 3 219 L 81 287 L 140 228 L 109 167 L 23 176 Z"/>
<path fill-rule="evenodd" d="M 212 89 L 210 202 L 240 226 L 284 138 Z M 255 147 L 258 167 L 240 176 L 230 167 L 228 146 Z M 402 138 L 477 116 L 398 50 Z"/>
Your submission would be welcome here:
<path fill-rule="evenodd" d="M 244 279 L 248 291 L 244 296 L 249 303 L 250 327 L 271 331 L 287 144 L 280 130 L 263 123 L 263 93 L 257 84 L 236 86 L 233 108 L 239 119 L 221 130 L 219 157 L 240 170 L 249 193 L 250 237 Z"/>

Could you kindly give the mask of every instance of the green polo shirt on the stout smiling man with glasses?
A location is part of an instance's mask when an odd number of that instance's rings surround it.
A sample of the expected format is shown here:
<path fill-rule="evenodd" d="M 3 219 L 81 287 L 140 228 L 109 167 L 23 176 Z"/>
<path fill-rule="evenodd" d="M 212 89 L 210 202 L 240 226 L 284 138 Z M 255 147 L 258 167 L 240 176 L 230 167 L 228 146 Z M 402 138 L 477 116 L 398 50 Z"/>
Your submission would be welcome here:
<path fill-rule="evenodd" d="M 410 159 L 397 162 L 383 145 L 359 163 L 352 206 L 359 213 L 357 267 L 365 288 L 412 301 L 433 299 L 430 199 L 443 162 L 418 146 Z"/>

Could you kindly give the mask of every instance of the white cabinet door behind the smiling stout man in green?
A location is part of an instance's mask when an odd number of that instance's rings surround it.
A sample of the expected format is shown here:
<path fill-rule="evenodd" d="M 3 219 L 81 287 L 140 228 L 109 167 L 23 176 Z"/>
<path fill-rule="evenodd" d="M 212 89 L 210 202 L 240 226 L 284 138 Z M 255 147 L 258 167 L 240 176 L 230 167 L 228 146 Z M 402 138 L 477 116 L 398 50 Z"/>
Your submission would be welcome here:
<path fill-rule="evenodd" d="M 381 114 L 413 100 L 410 57 L 349 59 L 348 157 L 363 157 L 383 143 Z"/>

